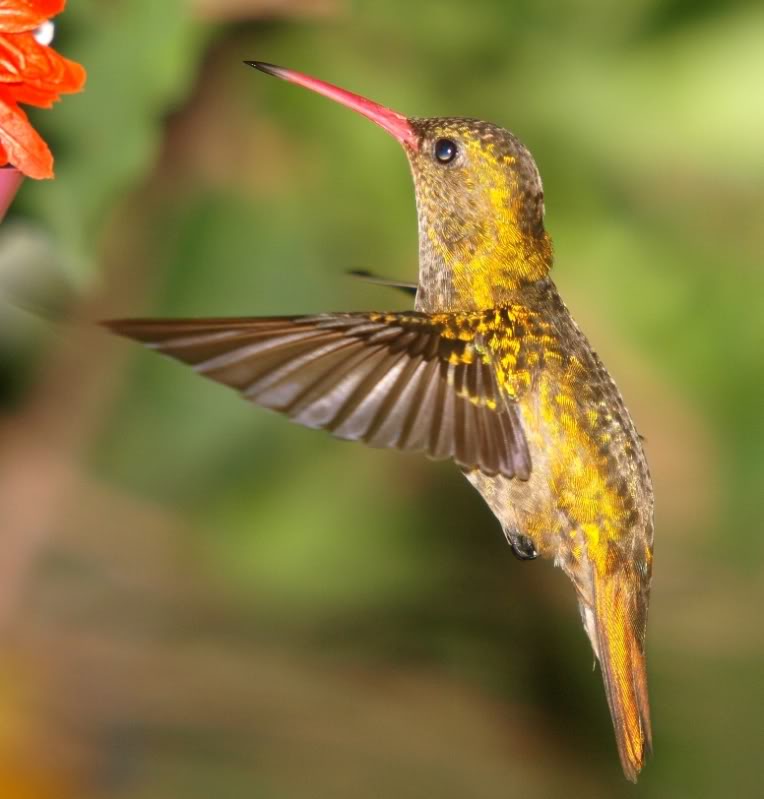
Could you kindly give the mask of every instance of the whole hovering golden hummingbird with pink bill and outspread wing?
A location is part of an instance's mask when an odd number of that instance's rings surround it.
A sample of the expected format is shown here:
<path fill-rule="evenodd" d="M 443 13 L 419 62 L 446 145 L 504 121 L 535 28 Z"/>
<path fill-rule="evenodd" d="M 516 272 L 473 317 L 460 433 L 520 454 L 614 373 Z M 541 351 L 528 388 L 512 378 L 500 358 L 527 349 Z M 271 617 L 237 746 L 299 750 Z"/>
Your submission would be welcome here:
<path fill-rule="evenodd" d="M 550 277 L 533 157 L 489 122 L 406 117 L 294 70 L 245 64 L 359 112 L 402 145 L 419 275 L 401 288 L 415 291 L 415 309 L 104 325 L 307 427 L 453 460 L 514 554 L 550 558 L 572 581 L 635 782 L 652 749 L 653 491 L 621 394 Z"/>

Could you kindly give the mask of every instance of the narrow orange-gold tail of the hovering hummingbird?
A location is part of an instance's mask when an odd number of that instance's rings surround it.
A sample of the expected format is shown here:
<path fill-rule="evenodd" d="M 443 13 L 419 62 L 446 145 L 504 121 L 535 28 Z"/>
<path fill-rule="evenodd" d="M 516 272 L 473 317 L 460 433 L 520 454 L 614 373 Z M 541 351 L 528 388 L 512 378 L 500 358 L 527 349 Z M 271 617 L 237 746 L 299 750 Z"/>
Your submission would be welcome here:
<path fill-rule="evenodd" d="M 638 584 L 628 573 L 596 579 L 593 619 L 591 611 L 586 610 L 585 624 L 602 669 L 621 765 L 626 778 L 636 782 L 652 752 L 644 652 L 646 619 Z"/>

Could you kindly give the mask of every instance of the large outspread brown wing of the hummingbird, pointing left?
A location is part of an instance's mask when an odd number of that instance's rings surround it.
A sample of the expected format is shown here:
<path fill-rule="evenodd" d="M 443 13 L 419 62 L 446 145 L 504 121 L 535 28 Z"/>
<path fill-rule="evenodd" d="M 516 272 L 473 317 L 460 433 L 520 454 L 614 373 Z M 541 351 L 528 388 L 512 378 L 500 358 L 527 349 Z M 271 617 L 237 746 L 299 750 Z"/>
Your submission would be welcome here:
<path fill-rule="evenodd" d="M 104 323 L 307 427 L 527 480 L 515 402 L 467 324 L 415 311 Z"/>

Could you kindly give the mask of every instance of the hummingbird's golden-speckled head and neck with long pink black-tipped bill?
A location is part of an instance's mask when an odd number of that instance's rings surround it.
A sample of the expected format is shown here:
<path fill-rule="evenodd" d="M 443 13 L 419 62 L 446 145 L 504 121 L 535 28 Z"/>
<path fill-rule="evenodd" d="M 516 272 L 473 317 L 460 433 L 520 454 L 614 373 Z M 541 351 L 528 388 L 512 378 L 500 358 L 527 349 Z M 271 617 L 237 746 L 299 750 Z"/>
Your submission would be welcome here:
<path fill-rule="evenodd" d="M 476 119 L 408 118 L 300 72 L 246 63 L 352 108 L 401 143 L 419 218 L 418 307 L 494 308 L 546 277 L 552 245 L 541 178 L 508 130 Z"/>

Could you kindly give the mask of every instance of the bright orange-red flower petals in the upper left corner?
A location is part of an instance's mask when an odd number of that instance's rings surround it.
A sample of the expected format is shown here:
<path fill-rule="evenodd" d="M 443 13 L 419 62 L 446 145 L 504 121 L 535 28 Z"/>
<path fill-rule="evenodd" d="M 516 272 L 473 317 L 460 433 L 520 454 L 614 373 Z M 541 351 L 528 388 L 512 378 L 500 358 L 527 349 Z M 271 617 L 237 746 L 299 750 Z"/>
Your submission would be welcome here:
<path fill-rule="evenodd" d="M 50 108 L 79 91 L 82 66 L 41 44 L 34 31 L 63 11 L 66 0 L 0 0 L 0 166 L 30 178 L 52 178 L 53 156 L 19 103 Z"/>

